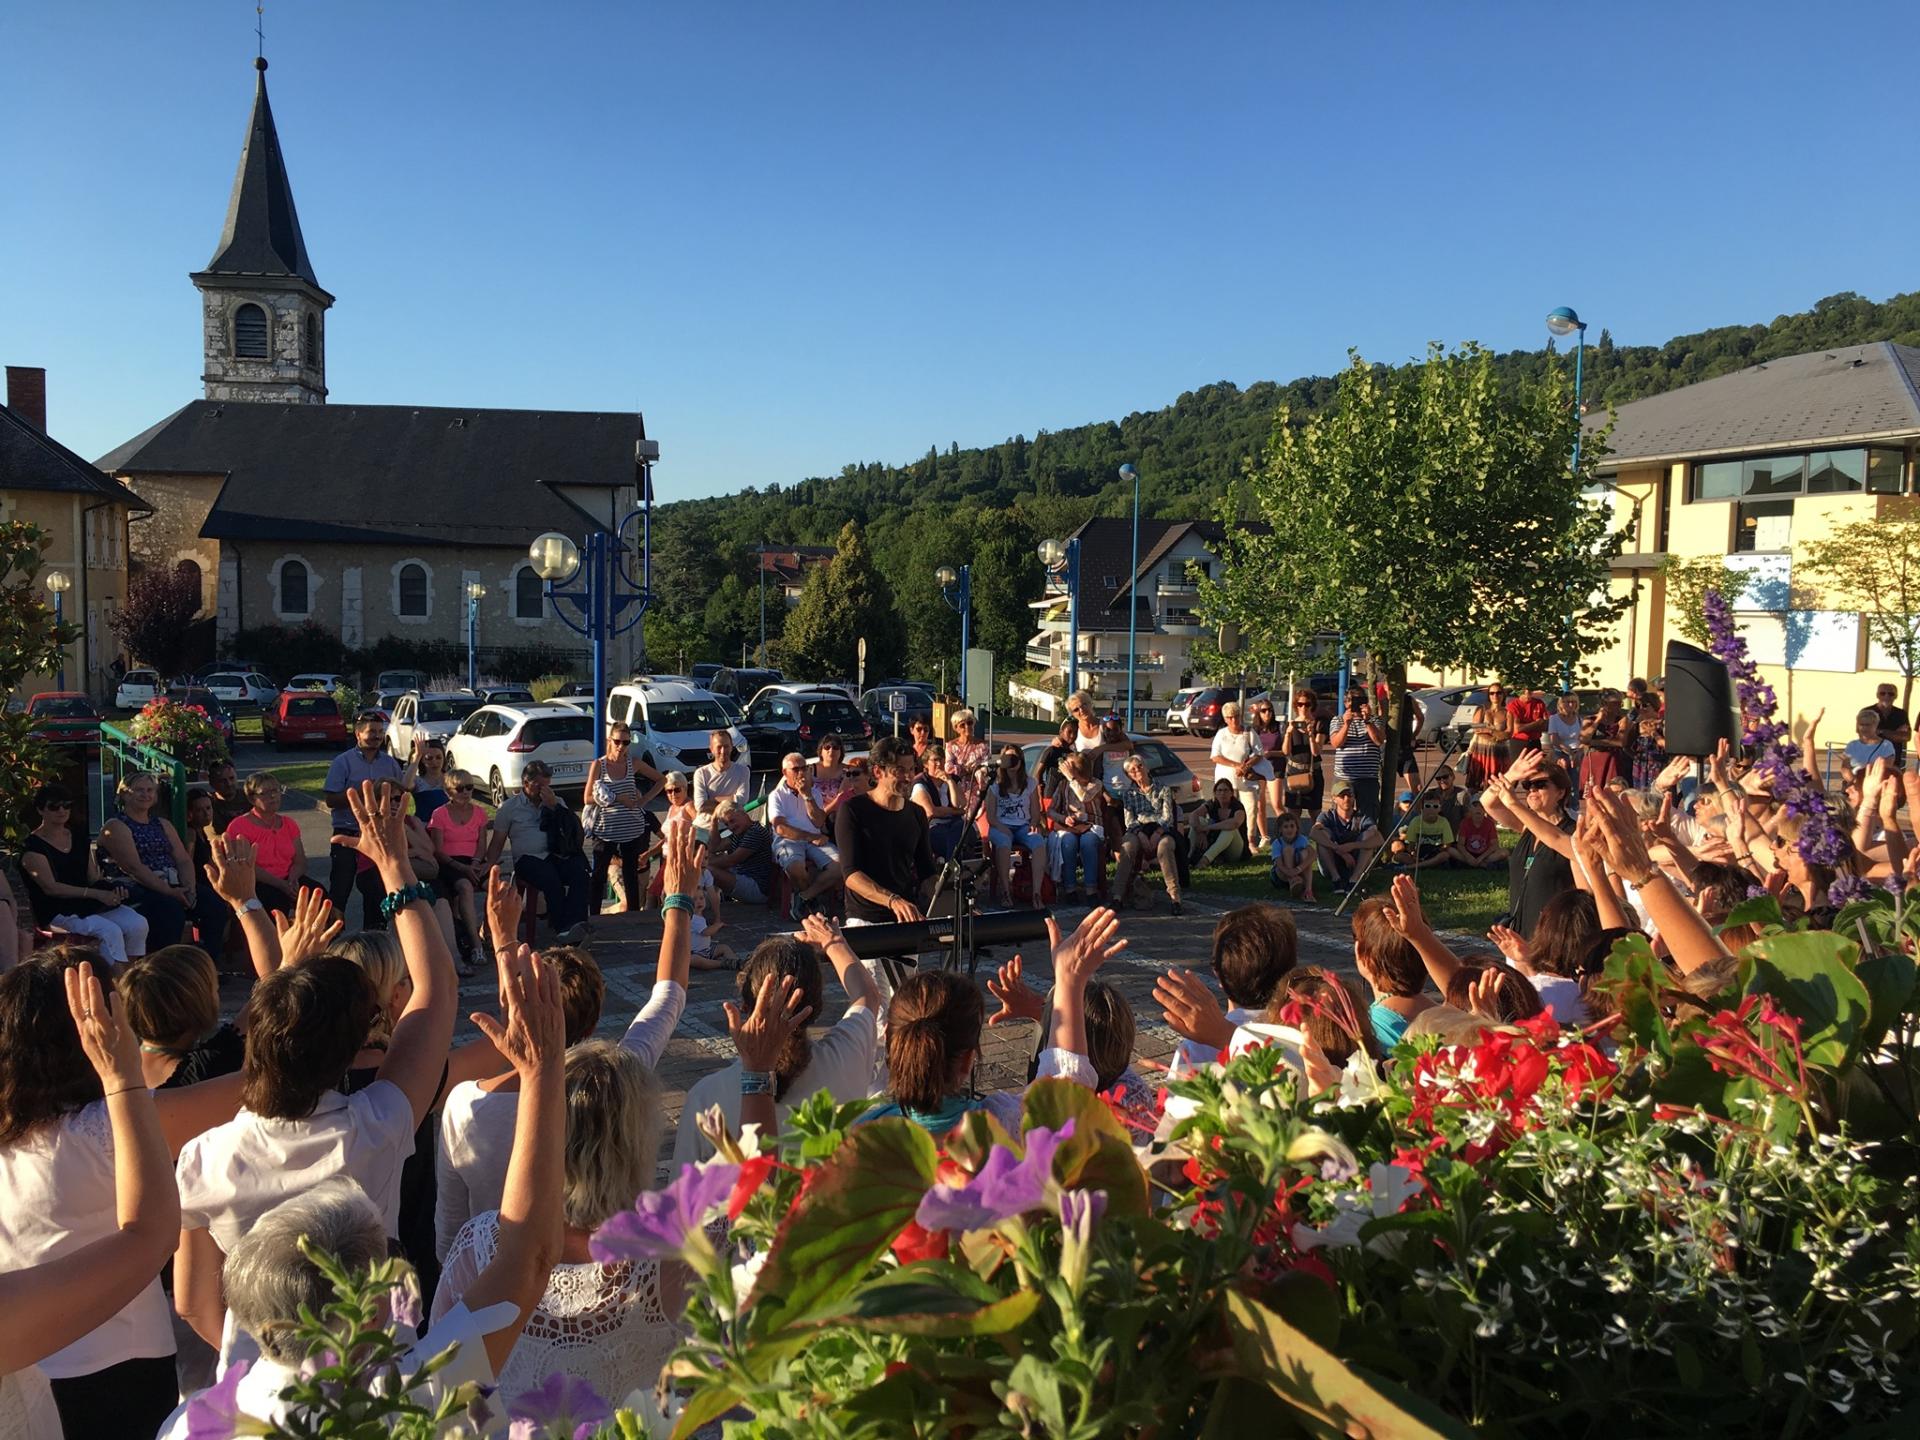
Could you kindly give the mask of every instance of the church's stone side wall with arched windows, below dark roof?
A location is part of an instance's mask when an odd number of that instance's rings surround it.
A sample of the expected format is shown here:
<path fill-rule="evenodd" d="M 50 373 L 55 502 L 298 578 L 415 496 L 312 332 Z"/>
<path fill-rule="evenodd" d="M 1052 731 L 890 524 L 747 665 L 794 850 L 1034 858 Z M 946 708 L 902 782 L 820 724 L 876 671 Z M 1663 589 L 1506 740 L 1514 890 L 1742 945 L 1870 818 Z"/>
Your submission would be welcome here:
<path fill-rule="evenodd" d="M 240 628 L 311 620 L 355 647 L 399 636 L 445 641 L 465 651 L 467 588 L 480 584 L 486 586 L 476 624 L 482 651 L 541 645 L 584 653 L 588 645 L 536 593 L 532 582 L 522 584 L 526 551 L 518 547 L 228 541 L 225 549 L 228 566 L 223 588 L 232 593 L 232 614 L 221 607 L 223 639 Z M 609 670 L 626 674 L 632 653 L 632 634 L 616 637 Z M 271 666 L 271 657 L 248 659 Z M 584 660 L 570 666 L 586 672 Z"/>

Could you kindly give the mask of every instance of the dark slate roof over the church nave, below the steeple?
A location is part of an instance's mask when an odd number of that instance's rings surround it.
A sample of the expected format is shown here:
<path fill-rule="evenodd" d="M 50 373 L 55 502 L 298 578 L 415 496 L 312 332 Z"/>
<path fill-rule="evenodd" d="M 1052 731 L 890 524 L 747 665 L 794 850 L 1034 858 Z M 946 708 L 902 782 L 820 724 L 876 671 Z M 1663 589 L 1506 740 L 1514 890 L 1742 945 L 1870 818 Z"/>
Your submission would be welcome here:
<path fill-rule="evenodd" d="M 207 540 L 513 545 L 588 518 L 563 488 L 637 488 L 632 411 L 196 399 L 98 465 L 217 474 Z"/>

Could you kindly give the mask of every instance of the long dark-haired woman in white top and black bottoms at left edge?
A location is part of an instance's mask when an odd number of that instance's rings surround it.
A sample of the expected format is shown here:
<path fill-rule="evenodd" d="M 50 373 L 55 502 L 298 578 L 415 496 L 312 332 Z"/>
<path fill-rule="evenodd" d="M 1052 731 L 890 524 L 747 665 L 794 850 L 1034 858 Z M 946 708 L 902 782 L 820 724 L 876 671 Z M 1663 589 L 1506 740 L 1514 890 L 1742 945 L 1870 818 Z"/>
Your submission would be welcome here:
<path fill-rule="evenodd" d="M 69 981 L 69 972 L 81 979 Z M 138 1054 L 106 1085 L 67 1000 L 69 987 L 83 987 L 83 1021 L 88 1006 L 104 1021 L 111 1004 L 104 975 L 98 952 L 83 947 L 42 950 L 0 975 L 0 1275 L 8 1286 L 23 1284 L 19 1273 L 29 1267 L 86 1265 L 127 1231 L 127 1185 L 148 1160 L 125 1148 L 129 1087 L 144 1094 Z M 167 1152 L 232 1116 L 238 1098 L 238 1075 L 156 1094 Z M 56 1298 L 58 1323 L 33 1323 L 40 1306 L 33 1298 L 13 1304 L 12 1288 L 0 1290 L 0 1325 L 33 1346 L 31 1356 L 0 1352 L 0 1369 L 38 1359 L 69 1436 L 152 1434 L 173 1409 L 173 1323 L 159 1288 L 169 1248 L 134 1246 L 142 1263 L 129 1260 L 111 1275 L 102 1269 L 84 1284 L 77 1279 L 71 1294 Z"/>

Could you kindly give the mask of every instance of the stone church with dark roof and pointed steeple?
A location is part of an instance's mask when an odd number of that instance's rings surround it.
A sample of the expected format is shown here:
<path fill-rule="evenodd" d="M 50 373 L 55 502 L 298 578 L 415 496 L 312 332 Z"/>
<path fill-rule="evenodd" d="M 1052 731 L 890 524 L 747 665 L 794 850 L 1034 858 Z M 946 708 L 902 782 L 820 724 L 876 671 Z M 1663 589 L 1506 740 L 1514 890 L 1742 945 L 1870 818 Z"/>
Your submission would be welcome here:
<path fill-rule="evenodd" d="M 651 497 L 659 445 L 639 413 L 328 403 L 334 296 L 300 232 L 267 61 L 253 63 L 227 223 L 190 276 L 204 397 L 96 461 L 152 507 L 131 528 L 132 568 L 190 568 L 223 657 L 244 632 L 305 624 L 355 649 L 397 636 L 465 653 L 480 586 L 482 670 L 528 647 L 578 670 L 586 641 L 528 543 L 616 526 Z M 636 649 L 637 634 L 616 637 L 609 670 Z M 234 659 L 273 668 L 273 655 Z"/>

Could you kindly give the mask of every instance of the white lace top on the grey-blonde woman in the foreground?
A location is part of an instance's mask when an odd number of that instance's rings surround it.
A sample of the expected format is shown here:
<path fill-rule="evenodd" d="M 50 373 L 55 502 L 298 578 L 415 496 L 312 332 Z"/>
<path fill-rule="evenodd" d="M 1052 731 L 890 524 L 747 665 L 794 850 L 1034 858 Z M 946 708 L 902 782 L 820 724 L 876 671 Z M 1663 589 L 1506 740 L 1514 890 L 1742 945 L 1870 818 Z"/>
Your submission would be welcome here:
<path fill-rule="evenodd" d="M 484 1210 L 461 1227 L 434 1292 L 436 1325 L 488 1267 L 497 1244 L 497 1210 Z M 426 1338 L 432 1344 L 432 1331 Z M 561 1261 L 526 1317 L 526 1331 L 499 1375 L 499 1392 L 513 1400 L 557 1373 L 588 1380 L 603 1396 L 653 1390 L 684 1338 L 678 1317 L 660 1300 L 657 1261 Z"/>

